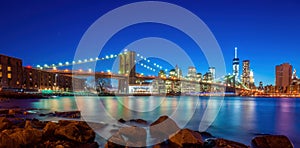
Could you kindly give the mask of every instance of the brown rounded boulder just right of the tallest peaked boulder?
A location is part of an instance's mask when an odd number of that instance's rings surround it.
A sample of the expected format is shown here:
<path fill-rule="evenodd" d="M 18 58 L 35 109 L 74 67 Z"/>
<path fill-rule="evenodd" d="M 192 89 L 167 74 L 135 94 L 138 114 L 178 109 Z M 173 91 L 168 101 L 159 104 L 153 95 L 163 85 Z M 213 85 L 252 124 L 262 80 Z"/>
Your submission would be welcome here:
<path fill-rule="evenodd" d="M 203 147 L 200 133 L 190 129 L 182 129 L 169 137 L 169 141 L 176 147 Z"/>

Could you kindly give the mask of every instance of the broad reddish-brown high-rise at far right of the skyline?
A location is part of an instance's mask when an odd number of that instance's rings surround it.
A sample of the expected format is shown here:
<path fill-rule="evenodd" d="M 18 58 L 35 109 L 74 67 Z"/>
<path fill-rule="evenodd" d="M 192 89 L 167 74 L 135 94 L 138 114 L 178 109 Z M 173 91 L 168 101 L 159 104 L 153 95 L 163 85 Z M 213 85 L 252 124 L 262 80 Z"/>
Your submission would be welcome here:
<path fill-rule="evenodd" d="M 292 82 L 292 69 L 289 63 L 276 66 L 276 86 L 279 90 L 285 91 Z"/>

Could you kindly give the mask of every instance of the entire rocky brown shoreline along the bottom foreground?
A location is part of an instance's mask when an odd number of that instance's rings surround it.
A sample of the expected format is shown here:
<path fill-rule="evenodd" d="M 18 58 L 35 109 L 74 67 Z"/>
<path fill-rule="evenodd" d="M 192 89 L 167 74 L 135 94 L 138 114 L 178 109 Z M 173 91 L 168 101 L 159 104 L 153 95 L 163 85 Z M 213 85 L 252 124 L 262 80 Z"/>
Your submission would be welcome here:
<path fill-rule="evenodd" d="M 23 114 L 23 117 L 18 117 Z M 55 112 L 45 116 L 56 115 L 64 118 L 78 118 L 79 111 Z M 41 115 L 39 115 L 41 116 Z M 180 129 L 168 116 L 161 116 L 149 123 L 143 119 L 119 119 L 122 125 L 112 130 L 112 136 L 105 143 L 97 143 L 94 126 L 100 123 L 60 120 L 58 122 L 26 119 L 26 109 L 0 110 L 0 148 L 2 147 L 46 147 L 46 148 L 116 148 L 116 147 L 203 147 L 203 148 L 292 148 L 293 144 L 286 136 L 262 135 L 254 137 L 251 146 L 215 138 L 210 133 Z M 93 128 L 90 126 L 92 125 Z M 147 139 L 153 139 L 147 143 Z"/>

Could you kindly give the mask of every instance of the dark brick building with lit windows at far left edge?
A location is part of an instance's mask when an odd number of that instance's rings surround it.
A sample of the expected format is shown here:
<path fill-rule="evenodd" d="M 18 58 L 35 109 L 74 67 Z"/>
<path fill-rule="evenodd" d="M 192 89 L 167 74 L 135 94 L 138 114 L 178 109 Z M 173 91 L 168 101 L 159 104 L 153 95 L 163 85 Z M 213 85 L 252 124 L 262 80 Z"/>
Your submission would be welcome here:
<path fill-rule="evenodd" d="M 22 88 L 22 60 L 0 54 L 0 90 Z"/>

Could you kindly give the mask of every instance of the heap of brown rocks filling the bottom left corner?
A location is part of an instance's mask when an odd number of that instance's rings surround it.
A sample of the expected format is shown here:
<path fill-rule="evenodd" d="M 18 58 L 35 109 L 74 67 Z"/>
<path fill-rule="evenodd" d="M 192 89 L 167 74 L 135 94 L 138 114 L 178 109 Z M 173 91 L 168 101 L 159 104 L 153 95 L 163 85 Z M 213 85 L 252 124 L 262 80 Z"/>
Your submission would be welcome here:
<path fill-rule="evenodd" d="M 95 132 L 83 121 L 42 122 L 23 120 L 14 124 L 0 117 L 2 147 L 87 147 L 96 148 Z"/>

